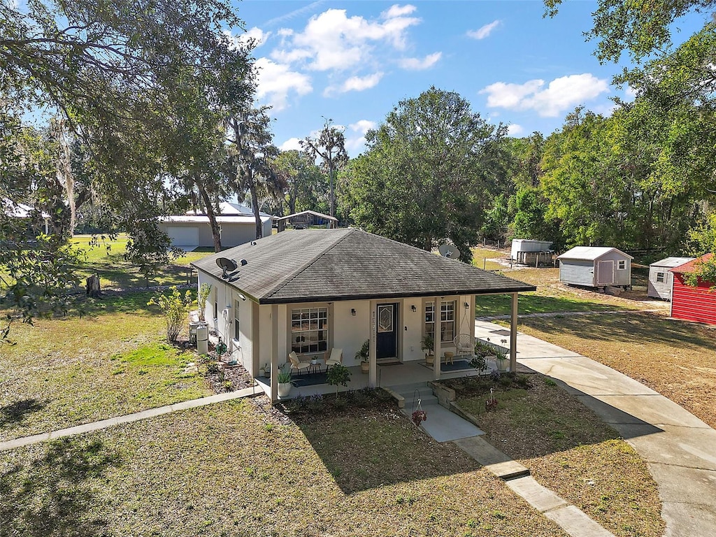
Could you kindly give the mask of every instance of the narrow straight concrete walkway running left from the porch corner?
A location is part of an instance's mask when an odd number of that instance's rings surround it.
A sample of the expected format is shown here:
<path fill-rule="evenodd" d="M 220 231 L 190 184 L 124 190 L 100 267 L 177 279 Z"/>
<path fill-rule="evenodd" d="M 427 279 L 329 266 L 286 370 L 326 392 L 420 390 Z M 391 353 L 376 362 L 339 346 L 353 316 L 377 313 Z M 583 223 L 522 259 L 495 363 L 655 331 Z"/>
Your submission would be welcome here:
<path fill-rule="evenodd" d="M 200 399 L 182 401 L 175 403 L 174 405 L 151 408 L 150 410 L 143 410 L 142 412 L 135 412 L 134 414 L 127 414 L 124 416 L 110 417 L 107 420 L 84 423 L 83 425 L 75 425 L 74 427 L 67 427 L 67 429 L 42 432 L 39 435 L 26 436 L 22 438 L 16 438 L 14 440 L 7 440 L 6 442 L 0 442 L 0 451 L 14 450 L 16 448 L 21 448 L 25 445 L 37 444 L 39 442 L 47 442 L 47 440 L 55 440 L 56 438 L 62 438 L 64 436 L 81 435 L 84 432 L 107 429 L 107 427 L 114 427 L 115 425 L 120 425 L 122 423 L 146 420 L 148 417 L 161 416 L 163 414 L 169 414 L 170 412 L 177 412 L 178 410 L 188 410 L 190 408 L 211 405 L 216 402 L 228 401 L 231 399 L 241 399 L 241 397 L 251 397 L 254 394 L 263 395 L 263 391 L 258 387 L 244 388 L 243 390 L 236 390 L 236 392 L 221 393 L 218 395 L 201 397 Z"/>

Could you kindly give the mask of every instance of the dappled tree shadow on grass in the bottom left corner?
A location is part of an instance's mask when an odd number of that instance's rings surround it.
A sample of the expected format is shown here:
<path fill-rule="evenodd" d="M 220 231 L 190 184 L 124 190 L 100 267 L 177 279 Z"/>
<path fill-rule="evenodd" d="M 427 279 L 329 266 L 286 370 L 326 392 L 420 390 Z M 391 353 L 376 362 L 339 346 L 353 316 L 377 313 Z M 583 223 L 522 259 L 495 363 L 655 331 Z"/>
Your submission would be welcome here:
<path fill-rule="evenodd" d="M 98 441 L 62 439 L 37 457 L 6 462 L 0 474 L 0 537 L 96 536 L 107 521 L 92 481 L 121 463 Z M 31 450 L 29 453 L 33 453 Z M 37 452 L 34 452 L 37 453 Z"/>

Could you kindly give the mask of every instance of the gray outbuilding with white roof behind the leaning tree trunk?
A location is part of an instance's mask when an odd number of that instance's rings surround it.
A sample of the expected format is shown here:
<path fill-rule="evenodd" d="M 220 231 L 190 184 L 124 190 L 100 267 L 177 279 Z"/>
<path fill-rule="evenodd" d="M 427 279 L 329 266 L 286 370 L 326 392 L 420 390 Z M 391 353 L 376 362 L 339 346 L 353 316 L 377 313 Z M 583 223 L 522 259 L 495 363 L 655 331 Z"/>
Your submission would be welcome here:
<path fill-rule="evenodd" d="M 271 235 L 271 215 L 258 213 L 263 236 Z M 228 248 L 248 243 L 256 238 L 256 219 L 253 210 L 239 203 L 219 203 L 216 221 L 221 228 L 221 246 Z M 172 246 L 183 248 L 211 248 L 214 239 L 209 217 L 205 213 L 188 211 L 183 215 L 159 219 L 160 230 L 167 233 Z"/>

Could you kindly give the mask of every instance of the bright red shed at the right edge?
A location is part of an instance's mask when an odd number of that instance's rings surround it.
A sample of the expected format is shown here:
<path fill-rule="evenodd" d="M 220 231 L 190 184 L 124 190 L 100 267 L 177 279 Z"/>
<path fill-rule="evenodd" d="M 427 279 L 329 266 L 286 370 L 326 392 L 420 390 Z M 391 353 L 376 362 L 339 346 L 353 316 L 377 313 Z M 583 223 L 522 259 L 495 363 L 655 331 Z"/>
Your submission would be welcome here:
<path fill-rule="evenodd" d="M 716 291 L 711 290 L 716 286 L 716 282 L 699 279 L 698 286 L 692 287 L 684 281 L 684 274 L 696 271 L 700 263 L 709 260 L 713 255 L 707 253 L 671 269 L 674 273 L 671 316 L 675 319 L 716 324 Z"/>

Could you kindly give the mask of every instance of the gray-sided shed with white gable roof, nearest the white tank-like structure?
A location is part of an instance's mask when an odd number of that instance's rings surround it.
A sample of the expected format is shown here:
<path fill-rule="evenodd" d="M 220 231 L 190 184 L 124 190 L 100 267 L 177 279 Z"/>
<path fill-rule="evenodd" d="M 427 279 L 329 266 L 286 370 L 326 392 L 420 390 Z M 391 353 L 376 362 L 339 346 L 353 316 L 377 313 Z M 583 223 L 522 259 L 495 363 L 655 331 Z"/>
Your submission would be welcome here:
<path fill-rule="evenodd" d="M 575 246 L 557 256 L 559 281 L 585 287 L 632 285 L 632 256 L 607 246 Z"/>

